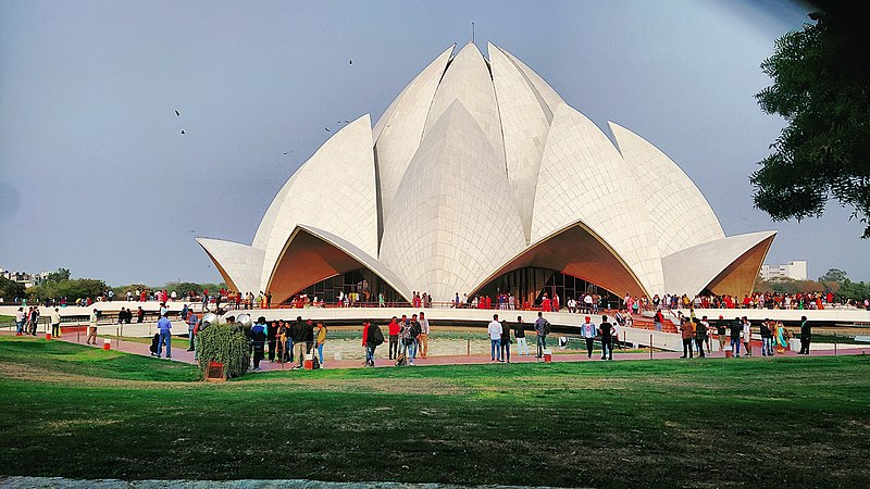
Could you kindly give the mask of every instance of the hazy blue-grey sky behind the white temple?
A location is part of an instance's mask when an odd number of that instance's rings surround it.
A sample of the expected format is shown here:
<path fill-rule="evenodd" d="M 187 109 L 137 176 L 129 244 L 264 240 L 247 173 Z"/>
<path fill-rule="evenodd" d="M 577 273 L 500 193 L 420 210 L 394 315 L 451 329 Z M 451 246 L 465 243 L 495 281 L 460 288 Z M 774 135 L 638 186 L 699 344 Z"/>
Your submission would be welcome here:
<path fill-rule="evenodd" d="M 768 263 L 870 279 L 847 210 L 772 223 L 751 203 L 783 124 L 753 97 L 759 64 L 806 20 L 788 2 L 0 1 L 0 267 L 220 280 L 194 236 L 250 243 L 338 121 L 376 121 L 474 22 L 484 54 L 669 154 L 728 235 L 779 229 Z"/>

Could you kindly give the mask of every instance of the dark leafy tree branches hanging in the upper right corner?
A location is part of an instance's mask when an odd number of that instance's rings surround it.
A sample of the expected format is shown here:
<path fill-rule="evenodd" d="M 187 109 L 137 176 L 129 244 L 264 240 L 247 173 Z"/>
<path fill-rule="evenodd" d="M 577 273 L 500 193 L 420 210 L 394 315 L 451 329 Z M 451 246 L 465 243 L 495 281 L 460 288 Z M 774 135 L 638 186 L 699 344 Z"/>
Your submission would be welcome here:
<path fill-rule="evenodd" d="M 819 217 L 833 198 L 870 238 L 870 55 L 863 17 L 848 5 L 810 14 L 816 23 L 782 36 L 761 63 L 773 85 L 756 99 L 788 126 L 750 181 L 755 205 L 774 221 Z"/>

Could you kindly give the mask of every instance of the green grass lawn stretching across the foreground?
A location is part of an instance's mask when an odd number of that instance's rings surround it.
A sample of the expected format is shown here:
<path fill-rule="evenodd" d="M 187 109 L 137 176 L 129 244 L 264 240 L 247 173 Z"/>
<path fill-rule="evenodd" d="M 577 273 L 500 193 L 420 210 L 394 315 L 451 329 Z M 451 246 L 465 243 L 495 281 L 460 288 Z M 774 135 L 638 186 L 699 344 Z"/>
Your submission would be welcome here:
<path fill-rule="evenodd" d="M 0 474 L 863 487 L 870 358 L 275 372 L 0 337 Z"/>

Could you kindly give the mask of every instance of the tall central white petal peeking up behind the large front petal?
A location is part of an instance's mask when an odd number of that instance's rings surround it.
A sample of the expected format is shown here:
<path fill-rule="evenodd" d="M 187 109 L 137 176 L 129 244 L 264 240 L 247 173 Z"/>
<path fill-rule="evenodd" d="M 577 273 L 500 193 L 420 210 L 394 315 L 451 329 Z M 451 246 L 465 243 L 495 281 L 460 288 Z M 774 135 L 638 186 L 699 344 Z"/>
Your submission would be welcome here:
<path fill-rule="evenodd" d="M 471 42 L 465 45 L 447 66 L 447 72 L 432 100 L 423 130 L 424 138 L 456 100 L 462 103 L 486 135 L 493 153 L 501 163 L 504 171 L 505 142 L 501 139 L 501 121 L 498 117 L 493 78 L 481 51 Z"/>

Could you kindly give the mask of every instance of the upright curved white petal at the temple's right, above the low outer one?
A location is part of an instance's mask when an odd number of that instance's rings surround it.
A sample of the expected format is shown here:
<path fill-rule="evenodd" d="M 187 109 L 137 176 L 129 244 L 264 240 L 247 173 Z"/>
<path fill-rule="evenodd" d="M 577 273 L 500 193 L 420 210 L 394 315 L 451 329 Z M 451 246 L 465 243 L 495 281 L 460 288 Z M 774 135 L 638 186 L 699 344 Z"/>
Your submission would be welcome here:
<path fill-rule="evenodd" d="M 608 124 L 644 197 L 662 256 L 725 236 L 707 199 L 676 163 L 646 139 Z"/>

